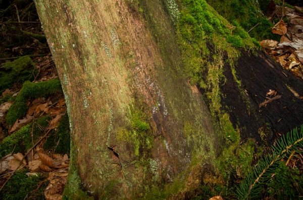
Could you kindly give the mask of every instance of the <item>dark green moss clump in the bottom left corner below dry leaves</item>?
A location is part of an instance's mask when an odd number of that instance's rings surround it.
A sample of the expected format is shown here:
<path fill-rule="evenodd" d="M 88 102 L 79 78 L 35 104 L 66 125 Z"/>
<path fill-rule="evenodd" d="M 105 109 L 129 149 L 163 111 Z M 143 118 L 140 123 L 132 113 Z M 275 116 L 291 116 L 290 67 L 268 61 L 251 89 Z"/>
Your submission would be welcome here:
<path fill-rule="evenodd" d="M 42 185 L 39 183 L 45 177 L 40 173 L 37 176 L 27 176 L 26 172 L 28 170 L 19 170 L 11 177 L 0 194 L 1 199 L 44 199 L 47 182 Z"/>

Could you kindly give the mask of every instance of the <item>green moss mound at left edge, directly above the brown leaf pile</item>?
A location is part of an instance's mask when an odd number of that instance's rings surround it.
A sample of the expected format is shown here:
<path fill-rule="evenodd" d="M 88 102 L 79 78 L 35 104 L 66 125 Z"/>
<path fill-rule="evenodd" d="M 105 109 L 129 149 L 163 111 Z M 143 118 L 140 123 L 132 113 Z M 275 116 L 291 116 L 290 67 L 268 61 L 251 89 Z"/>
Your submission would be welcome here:
<path fill-rule="evenodd" d="M 48 125 L 49 116 L 41 117 L 35 120 L 33 130 L 33 141 L 34 143 L 43 134 L 43 131 L 39 128 L 46 128 Z M 32 123 L 23 126 L 20 130 L 13 132 L 12 135 L 6 137 L 0 143 L 0 157 L 6 156 L 9 153 L 25 153 L 27 149 L 30 149 L 32 144 L 31 138 Z M 13 151 L 14 150 L 14 151 Z"/>

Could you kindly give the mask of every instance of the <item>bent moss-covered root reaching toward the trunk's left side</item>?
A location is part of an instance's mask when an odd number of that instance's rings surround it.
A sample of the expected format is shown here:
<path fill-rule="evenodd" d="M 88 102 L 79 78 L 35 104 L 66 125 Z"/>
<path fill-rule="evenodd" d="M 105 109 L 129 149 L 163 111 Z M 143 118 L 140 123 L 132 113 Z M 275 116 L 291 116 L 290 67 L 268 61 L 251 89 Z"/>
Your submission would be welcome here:
<path fill-rule="evenodd" d="M 10 107 L 6 122 L 14 124 L 17 119 L 22 118 L 27 112 L 27 100 L 35 99 L 38 97 L 47 97 L 49 95 L 62 92 L 61 84 L 58 79 L 43 81 L 39 83 L 24 82 L 16 101 Z"/>

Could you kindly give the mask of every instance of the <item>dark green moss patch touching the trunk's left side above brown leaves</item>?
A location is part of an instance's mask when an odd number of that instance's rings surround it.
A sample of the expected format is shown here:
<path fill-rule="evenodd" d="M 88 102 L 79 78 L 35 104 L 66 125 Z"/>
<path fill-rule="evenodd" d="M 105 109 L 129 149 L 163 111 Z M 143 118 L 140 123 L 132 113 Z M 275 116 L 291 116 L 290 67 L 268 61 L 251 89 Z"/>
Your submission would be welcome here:
<path fill-rule="evenodd" d="M 45 150 L 54 150 L 54 153 L 70 153 L 70 129 L 68 115 L 65 114 L 56 131 L 53 131 L 45 141 L 43 148 Z"/>

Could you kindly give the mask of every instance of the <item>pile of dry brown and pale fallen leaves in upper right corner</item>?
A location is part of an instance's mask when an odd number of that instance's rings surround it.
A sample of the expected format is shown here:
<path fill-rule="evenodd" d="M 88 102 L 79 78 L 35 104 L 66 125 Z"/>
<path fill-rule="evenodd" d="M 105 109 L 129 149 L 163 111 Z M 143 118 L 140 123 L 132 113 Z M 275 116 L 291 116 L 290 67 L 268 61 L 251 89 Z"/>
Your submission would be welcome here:
<path fill-rule="evenodd" d="M 300 9 L 277 6 L 274 14 L 280 19 L 286 17 L 288 21 L 286 24 L 280 20 L 272 29 L 274 34 L 281 35 L 281 40 L 263 40 L 260 44 L 284 69 L 303 79 L 303 17 L 298 12 Z"/>

